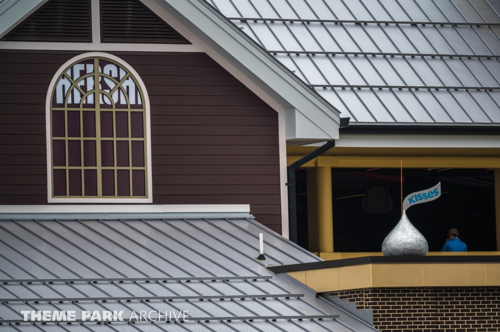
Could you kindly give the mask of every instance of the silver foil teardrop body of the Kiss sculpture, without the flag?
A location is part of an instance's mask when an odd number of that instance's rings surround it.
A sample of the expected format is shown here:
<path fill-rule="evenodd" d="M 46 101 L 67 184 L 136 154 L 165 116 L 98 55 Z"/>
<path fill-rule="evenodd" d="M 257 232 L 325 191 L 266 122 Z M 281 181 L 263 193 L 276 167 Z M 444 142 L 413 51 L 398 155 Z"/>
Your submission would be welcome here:
<path fill-rule="evenodd" d="M 390 231 L 382 243 L 384 256 L 425 256 L 429 251 L 427 241 L 418 230 L 411 225 L 403 211 L 396 227 Z"/>

